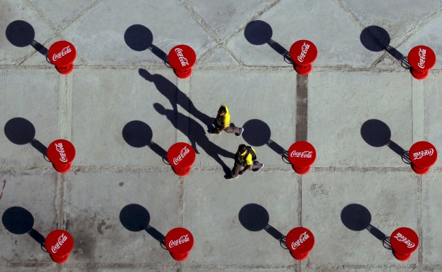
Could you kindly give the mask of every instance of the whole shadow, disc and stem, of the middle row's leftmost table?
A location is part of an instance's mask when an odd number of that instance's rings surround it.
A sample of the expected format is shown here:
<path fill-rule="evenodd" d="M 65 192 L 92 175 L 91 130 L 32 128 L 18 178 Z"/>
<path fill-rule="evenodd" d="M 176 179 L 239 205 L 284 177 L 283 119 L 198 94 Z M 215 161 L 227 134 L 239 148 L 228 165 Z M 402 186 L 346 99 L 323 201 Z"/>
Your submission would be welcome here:
<path fill-rule="evenodd" d="M 35 127 L 27 119 L 21 117 L 15 117 L 10 119 L 5 124 L 5 135 L 14 144 L 30 144 L 35 149 L 39 150 L 43 154 L 44 159 L 49 162 L 46 157 L 46 151 L 48 148 L 35 139 Z"/>

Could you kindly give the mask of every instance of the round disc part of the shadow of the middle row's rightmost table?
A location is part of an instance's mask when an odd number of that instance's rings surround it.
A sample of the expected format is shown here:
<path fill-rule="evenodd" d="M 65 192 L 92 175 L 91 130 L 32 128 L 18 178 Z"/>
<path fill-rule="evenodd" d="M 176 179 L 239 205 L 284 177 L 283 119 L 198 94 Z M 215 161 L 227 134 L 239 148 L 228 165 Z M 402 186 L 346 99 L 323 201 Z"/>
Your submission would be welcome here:
<path fill-rule="evenodd" d="M 370 146 L 381 147 L 390 142 L 392 131 L 384 122 L 369 119 L 361 126 L 361 136 Z"/>

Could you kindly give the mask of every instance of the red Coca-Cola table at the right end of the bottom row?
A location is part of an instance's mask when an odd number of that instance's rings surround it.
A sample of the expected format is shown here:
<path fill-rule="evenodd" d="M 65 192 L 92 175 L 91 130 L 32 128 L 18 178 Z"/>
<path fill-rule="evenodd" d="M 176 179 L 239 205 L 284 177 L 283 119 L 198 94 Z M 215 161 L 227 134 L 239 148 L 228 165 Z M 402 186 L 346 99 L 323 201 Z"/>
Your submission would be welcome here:
<path fill-rule="evenodd" d="M 393 231 L 390 237 L 393 255 L 400 261 L 406 261 L 412 257 L 412 253 L 419 245 L 419 237 L 409 228 L 399 228 Z"/>

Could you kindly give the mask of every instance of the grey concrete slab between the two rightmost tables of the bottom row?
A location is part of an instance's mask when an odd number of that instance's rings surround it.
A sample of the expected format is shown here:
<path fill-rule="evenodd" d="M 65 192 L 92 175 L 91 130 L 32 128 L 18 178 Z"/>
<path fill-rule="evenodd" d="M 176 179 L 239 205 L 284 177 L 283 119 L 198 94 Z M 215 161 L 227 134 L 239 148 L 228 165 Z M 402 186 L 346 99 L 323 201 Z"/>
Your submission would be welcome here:
<path fill-rule="evenodd" d="M 315 237 L 309 262 L 398 264 L 378 237 L 382 233 L 390 236 L 402 226 L 418 232 L 417 189 L 417 177 L 412 173 L 324 171 L 303 176 L 302 226 Z M 346 208 L 350 204 L 365 207 L 365 212 Z M 372 229 L 374 234 L 365 229 L 369 225 L 377 229 Z M 407 264 L 417 260 L 415 252 Z"/>

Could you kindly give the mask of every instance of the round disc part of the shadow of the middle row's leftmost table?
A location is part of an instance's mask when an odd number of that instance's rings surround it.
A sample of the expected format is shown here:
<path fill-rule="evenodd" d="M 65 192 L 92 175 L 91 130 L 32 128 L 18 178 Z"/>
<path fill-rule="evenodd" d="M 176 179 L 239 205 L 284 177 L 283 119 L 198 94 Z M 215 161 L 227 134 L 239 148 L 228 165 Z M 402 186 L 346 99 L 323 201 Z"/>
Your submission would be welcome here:
<path fill-rule="evenodd" d="M 27 119 L 15 117 L 5 124 L 5 135 L 14 144 L 28 144 L 35 137 L 35 127 Z"/>

